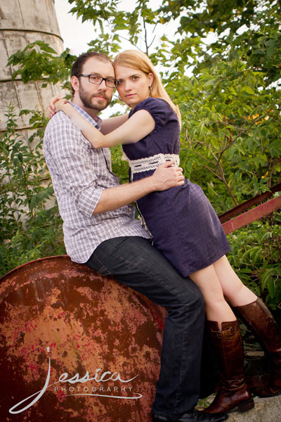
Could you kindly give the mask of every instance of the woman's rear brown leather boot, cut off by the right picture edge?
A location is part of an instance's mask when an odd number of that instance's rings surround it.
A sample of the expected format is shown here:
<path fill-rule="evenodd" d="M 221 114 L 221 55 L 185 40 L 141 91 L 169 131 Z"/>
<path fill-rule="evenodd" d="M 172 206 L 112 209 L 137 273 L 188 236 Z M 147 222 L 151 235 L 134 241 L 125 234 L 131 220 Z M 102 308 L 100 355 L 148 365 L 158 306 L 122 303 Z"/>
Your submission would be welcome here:
<path fill-rule="evenodd" d="M 270 376 L 264 385 L 256 385 L 251 390 L 260 397 L 273 397 L 281 394 L 281 331 L 273 314 L 261 299 L 234 308 L 261 343 L 270 359 Z M 264 378 L 266 381 L 266 378 Z"/>

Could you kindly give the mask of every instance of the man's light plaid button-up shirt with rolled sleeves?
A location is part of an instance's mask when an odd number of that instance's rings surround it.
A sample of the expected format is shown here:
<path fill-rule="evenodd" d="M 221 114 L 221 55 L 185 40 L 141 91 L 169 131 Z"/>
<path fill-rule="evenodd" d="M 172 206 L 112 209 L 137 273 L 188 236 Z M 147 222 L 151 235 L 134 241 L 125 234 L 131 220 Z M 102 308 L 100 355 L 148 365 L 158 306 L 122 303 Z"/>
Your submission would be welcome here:
<path fill-rule="evenodd" d="M 79 106 L 72 106 L 100 129 L 100 119 L 95 121 Z M 110 149 L 93 148 L 62 111 L 48 122 L 44 155 L 63 218 L 65 248 L 74 262 L 86 262 L 110 238 L 150 238 L 134 219 L 131 205 L 93 215 L 103 190 L 118 186 L 119 179 L 111 172 Z"/>

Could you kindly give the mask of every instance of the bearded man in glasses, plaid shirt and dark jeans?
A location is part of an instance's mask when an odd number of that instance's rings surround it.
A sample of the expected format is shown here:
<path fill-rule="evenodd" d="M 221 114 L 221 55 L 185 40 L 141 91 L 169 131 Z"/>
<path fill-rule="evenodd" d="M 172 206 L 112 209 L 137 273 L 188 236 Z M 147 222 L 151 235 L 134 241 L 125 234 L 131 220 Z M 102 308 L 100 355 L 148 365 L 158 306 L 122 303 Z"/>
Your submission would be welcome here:
<path fill-rule="evenodd" d="M 115 88 L 110 59 L 100 53 L 80 56 L 72 67 L 71 83 L 74 108 L 100 127 L 98 112 L 110 103 Z M 107 120 L 101 124 L 103 132 L 110 132 L 125 119 Z M 72 260 L 86 263 L 100 274 L 112 274 L 168 310 L 153 421 L 215 422 L 227 418 L 194 409 L 204 326 L 200 290 L 153 248 L 150 235 L 134 219 L 133 207 L 127 205 L 152 191 L 183 184 L 181 170 L 165 163 L 152 176 L 120 186 L 111 172 L 108 148 L 92 148 L 63 112 L 48 123 L 44 153 Z"/>

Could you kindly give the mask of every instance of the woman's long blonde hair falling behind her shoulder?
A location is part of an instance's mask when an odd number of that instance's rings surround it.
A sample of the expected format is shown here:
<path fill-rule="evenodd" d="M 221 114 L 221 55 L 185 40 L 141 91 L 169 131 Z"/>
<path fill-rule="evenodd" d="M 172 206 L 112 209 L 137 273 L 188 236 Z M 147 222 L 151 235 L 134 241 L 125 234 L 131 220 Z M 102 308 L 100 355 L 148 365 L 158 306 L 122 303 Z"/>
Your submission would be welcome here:
<path fill-rule="evenodd" d="M 166 103 L 169 104 L 171 109 L 178 116 L 178 121 L 181 125 L 181 112 L 178 106 L 176 106 L 173 101 L 171 101 L 171 98 L 167 94 L 166 89 L 164 89 L 161 79 L 157 75 L 154 66 L 152 65 L 150 59 L 148 58 L 148 56 L 146 56 L 145 53 L 142 53 L 142 51 L 138 50 L 122 51 L 122 53 L 117 54 L 115 60 L 113 61 L 114 68 L 117 65 L 122 65 L 126 68 L 141 70 L 141 72 L 145 73 L 145 75 L 152 73 L 153 82 L 151 85 L 150 96 L 152 96 L 152 98 L 162 98 L 162 100 L 166 101 Z"/>

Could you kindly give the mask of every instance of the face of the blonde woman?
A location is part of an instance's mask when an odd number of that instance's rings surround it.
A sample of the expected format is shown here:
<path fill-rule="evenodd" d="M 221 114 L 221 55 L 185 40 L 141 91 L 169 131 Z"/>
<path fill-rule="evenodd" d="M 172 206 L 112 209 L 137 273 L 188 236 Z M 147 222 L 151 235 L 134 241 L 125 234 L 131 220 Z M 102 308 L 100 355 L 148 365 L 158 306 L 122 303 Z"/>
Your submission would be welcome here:
<path fill-rule="evenodd" d="M 115 77 L 118 81 L 117 91 L 120 99 L 131 108 L 135 108 L 138 103 L 150 96 L 152 73 L 146 75 L 141 70 L 117 65 Z"/>

